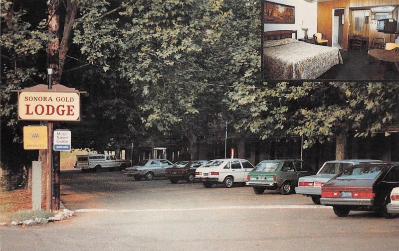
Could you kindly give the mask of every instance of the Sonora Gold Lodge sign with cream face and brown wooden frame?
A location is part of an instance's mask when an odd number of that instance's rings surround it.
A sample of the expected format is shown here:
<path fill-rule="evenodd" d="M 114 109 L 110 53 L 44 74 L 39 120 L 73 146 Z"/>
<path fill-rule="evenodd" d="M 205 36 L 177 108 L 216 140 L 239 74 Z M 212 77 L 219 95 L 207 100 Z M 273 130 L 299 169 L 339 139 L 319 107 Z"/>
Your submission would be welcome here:
<path fill-rule="evenodd" d="M 74 88 L 36 85 L 18 92 L 18 119 L 80 121 L 80 95 Z"/>

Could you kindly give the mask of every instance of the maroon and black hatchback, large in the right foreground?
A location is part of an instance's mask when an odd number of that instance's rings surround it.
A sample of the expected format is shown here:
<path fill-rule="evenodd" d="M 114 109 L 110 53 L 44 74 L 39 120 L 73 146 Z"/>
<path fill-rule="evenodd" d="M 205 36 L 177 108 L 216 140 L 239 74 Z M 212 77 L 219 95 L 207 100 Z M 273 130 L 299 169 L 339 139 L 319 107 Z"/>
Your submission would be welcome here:
<path fill-rule="evenodd" d="M 321 188 L 322 205 L 333 206 L 338 217 L 353 211 L 381 212 L 386 218 L 391 191 L 399 186 L 399 163 L 365 163 L 339 173 Z"/>

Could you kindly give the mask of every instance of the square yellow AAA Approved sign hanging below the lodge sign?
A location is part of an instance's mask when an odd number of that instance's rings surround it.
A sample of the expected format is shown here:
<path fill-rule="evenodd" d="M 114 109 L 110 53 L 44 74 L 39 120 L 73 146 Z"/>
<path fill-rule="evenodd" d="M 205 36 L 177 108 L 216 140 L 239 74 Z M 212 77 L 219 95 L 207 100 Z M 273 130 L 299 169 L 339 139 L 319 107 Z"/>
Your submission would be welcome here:
<path fill-rule="evenodd" d="M 47 149 L 47 126 L 23 126 L 23 149 Z"/>

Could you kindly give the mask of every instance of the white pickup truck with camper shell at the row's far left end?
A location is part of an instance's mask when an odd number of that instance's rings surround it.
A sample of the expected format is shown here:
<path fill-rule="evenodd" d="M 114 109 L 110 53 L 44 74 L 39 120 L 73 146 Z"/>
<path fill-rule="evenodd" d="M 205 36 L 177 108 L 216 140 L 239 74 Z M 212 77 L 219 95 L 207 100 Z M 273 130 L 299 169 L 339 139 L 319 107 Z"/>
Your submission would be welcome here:
<path fill-rule="evenodd" d="M 117 171 L 125 169 L 129 164 L 128 160 L 116 159 L 115 155 L 108 154 L 85 154 L 76 155 L 75 168 L 87 171 Z"/>

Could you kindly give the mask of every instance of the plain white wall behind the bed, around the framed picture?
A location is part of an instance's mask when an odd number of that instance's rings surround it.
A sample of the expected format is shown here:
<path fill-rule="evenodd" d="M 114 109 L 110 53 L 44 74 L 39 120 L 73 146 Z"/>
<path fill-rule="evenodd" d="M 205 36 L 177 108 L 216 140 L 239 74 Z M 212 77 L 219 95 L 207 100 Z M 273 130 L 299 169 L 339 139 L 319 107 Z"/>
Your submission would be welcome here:
<path fill-rule="evenodd" d="M 272 2 L 295 6 L 295 23 L 265 23 L 264 31 L 271 30 L 298 30 L 298 38 L 304 37 L 303 27 L 308 28 L 308 36 L 312 37 L 317 32 L 317 2 L 306 0 L 271 0 Z"/>

